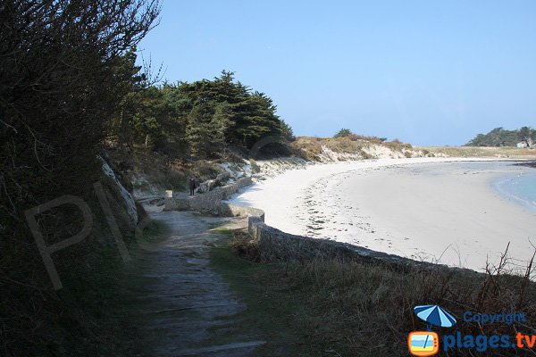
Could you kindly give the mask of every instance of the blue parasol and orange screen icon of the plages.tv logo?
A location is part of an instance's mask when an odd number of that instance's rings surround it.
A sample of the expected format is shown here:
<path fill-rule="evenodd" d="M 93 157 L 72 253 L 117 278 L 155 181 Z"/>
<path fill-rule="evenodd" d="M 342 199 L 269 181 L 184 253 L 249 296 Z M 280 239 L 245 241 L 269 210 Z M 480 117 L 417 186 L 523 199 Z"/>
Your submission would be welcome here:
<path fill-rule="evenodd" d="M 440 352 L 440 337 L 431 331 L 432 326 L 451 328 L 456 319 L 439 305 L 420 305 L 414 308 L 415 315 L 427 324 L 427 331 L 413 331 L 407 336 L 409 353 L 414 356 L 433 356 Z"/>

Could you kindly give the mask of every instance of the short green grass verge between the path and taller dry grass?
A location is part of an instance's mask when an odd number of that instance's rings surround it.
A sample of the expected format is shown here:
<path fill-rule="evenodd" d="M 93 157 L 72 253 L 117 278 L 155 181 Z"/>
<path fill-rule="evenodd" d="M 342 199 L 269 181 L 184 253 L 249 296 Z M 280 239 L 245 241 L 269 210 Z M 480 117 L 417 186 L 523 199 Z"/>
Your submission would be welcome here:
<path fill-rule="evenodd" d="M 237 321 L 234 326 L 227 334 L 219 336 L 220 343 L 240 335 L 249 340 L 267 342 L 258 351 L 259 355 L 315 355 L 299 353 L 299 347 L 307 336 L 293 325 L 297 311 L 304 308 L 299 296 L 302 292 L 284 284 L 274 285 L 271 278 L 281 274 L 280 265 L 260 264 L 239 258 L 230 248 L 230 239 L 215 245 L 210 257 L 214 270 L 222 274 L 233 292 L 247 304 L 247 311 L 233 317 Z"/>

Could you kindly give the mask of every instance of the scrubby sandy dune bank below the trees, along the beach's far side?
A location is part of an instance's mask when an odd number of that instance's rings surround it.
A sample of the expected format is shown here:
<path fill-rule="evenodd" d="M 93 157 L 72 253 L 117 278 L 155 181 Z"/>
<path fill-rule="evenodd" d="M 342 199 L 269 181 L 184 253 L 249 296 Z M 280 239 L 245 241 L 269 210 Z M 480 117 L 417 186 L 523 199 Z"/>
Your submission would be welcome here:
<path fill-rule="evenodd" d="M 488 158 L 512 158 L 526 159 L 534 157 L 534 150 L 529 148 L 503 147 L 476 147 L 476 146 L 433 146 L 421 147 L 408 143 L 401 143 L 396 139 L 389 142 L 379 143 L 374 139 L 356 139 L 348 137 L 294 137 L 292 141 L 278 148 L 281 154 L 264 154 L 255 156 L 255 160 L 263 158 L 289 157 L 289 160 L 270 160 L 270 166 L 278 171 L 291 168 L 292 162 L 299 164 L 301 161 L 309 162 L 339 162 L 364 159 L 378 159 L 389 157 L 488 157 Z M 231 170 L 243 170 L 250 165 L 251 172 L 257 173 L 258 164 L 238 149 L 228 146 L 227 150 L 217 153 L 218 157 L 206 160 L 189 160 L 173 158 L 143 145 L 124 145 L 108 147 L 107 153 L 114 163 L 121 177 L 129 182 L 128 187 L 142 195 L 161 195 L 165 189 L 186 191 L 188 178 L 196 177 L 201 181 L 215 179 L 219 174 L 224 174 L 223 167 Z M 268 163 L 266 162 L 266 163 Z"/>

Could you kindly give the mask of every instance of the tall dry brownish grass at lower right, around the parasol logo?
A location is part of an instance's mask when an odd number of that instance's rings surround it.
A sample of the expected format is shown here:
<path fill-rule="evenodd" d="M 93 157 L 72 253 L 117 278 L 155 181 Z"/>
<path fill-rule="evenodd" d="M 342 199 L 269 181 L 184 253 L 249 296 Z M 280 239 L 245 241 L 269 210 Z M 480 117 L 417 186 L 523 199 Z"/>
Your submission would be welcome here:
<path fill-rule="evenodd" d="M 454 313 L 459 321 L 456 330 L 464 335 L 515 336 L 517 332 L 532 334 L 536 327 L 534 286 L 528 278 L 509 276 L 500 268 L 491 268 L 484 276 L 477 276 L 468 271 L 442 268 L 401 273 L 360 262 L 313 261 L 287 271 L 290 284 L 303 286 L 310 292 L 309 303 L 319 306 L 322 320 L 339 326 L 331 329 L 334 336 L 330 338 L 339 340 L 340 350 L 358 355 L 380 353 L 384 345 L 376 349 L 364 342 L 380 340 L 386 331 L 392 341 L 398 342 L 393 355 L 403 355 L 406 333 L 426 328 L 413 314 L 414 306 L 420 304 L 439 304 Z M 530 320 L 524 326 L 465 323 L 462 321 L 465 311 L 526 312 Z M 444 328 L 440 328 L 440 332 L 449 333 Z M 473 353 L 456 351 L 456 355 Z M 516 355 L 529 355 L 527 353 L 529 351 L 525 350 Z M 498 353 L 490 351 L 478 355 Z M 508 351 L 507 355 L 514 354 Z"/>

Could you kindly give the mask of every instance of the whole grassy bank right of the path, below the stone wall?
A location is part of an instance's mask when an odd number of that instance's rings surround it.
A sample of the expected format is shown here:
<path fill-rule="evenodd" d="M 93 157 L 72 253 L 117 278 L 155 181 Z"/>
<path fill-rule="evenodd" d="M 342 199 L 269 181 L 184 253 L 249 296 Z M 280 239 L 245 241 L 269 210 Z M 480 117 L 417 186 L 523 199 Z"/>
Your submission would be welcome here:
<path fill-rule="evenodd" d="M 413 313 L 417 304 L 438 303 L 460 321 L 464 311 L 526 311 L 526 325 L 536 326 L 534 285 L 504 274 L 504 265 L 484 275 L 441 267 L 403 271 L 359 260 L 255 262 L 256 249 L 255 242 L 239 236 L 214 247 L 211 258 L 214 269 L 247 303 L 232 333 L 267 341 L 260 356 L 407 355 L 407 333 L 426 328 Z M 456 326 L 473 335 L 533 333 L 532 328 L 515 328 Z M 474 349 L 450 353 L 486 355 Z M 513 350 L 494 353 L 515 355 Z"/>

